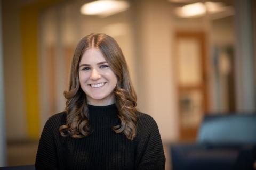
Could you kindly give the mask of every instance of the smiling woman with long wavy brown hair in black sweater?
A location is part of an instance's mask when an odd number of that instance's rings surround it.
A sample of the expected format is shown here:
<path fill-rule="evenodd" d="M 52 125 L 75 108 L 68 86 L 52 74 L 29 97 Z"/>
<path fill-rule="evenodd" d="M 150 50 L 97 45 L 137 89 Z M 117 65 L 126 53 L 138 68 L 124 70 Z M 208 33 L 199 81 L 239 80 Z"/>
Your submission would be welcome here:
<path fill-rule="evenodd" d="M 164 169 L 156 122 L 136 110 L 122 50 L 105 34 L 77 45 L 65 112 L 46 122 L 36 169 Z"/>

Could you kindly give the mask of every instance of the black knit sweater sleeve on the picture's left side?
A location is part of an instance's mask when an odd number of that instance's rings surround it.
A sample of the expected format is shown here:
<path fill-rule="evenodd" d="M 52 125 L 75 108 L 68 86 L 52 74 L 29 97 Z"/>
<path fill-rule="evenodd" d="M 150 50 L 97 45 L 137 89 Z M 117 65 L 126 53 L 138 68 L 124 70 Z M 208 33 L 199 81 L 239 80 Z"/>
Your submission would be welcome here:
<path fill-rule="evenodd" d="M 36 169 L 58 169 L 52 118 L 46 122 L 36 154 Z"/>

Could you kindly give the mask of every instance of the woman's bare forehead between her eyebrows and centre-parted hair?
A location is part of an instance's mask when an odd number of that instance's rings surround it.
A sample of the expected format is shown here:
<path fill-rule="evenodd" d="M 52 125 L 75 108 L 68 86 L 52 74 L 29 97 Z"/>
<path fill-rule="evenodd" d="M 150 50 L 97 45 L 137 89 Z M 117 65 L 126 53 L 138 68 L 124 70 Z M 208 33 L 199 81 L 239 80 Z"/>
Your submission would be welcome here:
<path fill-rule="evenodd" d="M 106 61 L 105 57 L 101 53 L 99 49 L 96 48 L 90 48 L 87 49 L 84 54 L 82 55 L 81 64 L 90 64 L 90 63 L 99 63 Z"/>

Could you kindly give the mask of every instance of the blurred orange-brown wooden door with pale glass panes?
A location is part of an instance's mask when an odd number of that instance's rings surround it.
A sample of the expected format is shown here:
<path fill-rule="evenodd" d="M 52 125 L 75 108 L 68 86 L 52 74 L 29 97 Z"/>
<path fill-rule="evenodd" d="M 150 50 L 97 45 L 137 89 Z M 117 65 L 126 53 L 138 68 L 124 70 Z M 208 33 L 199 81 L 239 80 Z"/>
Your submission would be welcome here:
<path fill-rule="evenodd" d="M 175 38 L 180 141 L 194 141 L 208 108 L 205 35 L 177 32 Z"/>

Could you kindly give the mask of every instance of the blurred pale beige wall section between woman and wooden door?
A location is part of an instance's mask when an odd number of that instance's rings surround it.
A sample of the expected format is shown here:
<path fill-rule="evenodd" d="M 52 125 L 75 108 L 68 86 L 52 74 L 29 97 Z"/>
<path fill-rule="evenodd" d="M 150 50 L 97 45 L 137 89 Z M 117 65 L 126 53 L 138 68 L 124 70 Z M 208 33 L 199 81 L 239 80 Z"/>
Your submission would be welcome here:
<path fill-rule="evenodd" d="M 138 107 L 153 116 L 164 142 L 178 138 L 173 70 L 173 21 L 167 1 L 140 1 L 138 7 Z"/>

